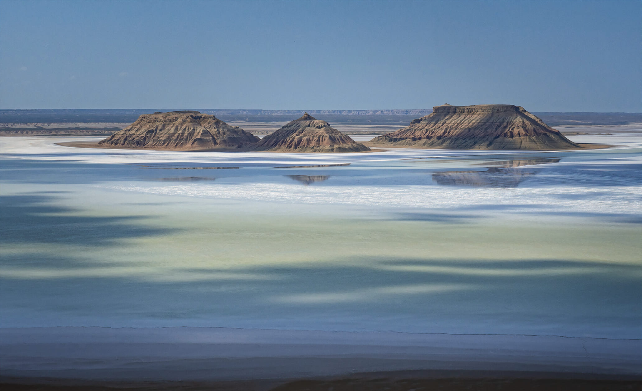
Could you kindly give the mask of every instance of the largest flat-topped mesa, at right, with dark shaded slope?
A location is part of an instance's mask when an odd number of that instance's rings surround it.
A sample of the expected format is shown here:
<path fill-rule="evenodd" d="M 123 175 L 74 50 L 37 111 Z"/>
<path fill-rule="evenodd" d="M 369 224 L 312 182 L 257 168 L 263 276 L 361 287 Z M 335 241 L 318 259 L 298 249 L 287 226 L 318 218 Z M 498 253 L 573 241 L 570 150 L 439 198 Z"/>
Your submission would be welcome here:
<path fill-rule="evenodd" d="M 521 106 L 433 107 L 410 126 L 370 141 L 375 146 L 441 149 L 551 150 L 581 148 Z"/>

